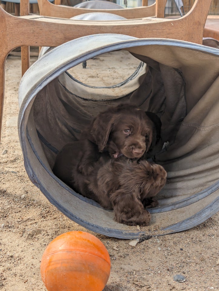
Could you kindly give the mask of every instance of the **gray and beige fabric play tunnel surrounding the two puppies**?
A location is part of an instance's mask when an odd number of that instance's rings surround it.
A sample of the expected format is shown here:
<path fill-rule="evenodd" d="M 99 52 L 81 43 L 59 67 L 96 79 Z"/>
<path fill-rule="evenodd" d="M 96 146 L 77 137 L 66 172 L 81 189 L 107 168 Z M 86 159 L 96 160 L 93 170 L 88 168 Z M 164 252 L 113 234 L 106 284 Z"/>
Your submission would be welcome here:
<path fill-rule="evenodd" d="M 66 72 L 122 49 L 139 59 L 125 82 L 98 88 Z M 19 87 L 18 131 L 28 176 L 62 213 L 106 236 L 133 239 L 196 226 L 219 210 L 218 87 L 219 50 L 203 45 L 99 34 L 54 48 L 28 69 Z M 129 101 L 161 118 L 154 159 L 168 172 L 159 206 L 148 209 L 151 223 L 140 230 L 115 222 L 112 211 L 74 192 L 51 170 L 61 147 L 78 139 L 93 116 Z"/>

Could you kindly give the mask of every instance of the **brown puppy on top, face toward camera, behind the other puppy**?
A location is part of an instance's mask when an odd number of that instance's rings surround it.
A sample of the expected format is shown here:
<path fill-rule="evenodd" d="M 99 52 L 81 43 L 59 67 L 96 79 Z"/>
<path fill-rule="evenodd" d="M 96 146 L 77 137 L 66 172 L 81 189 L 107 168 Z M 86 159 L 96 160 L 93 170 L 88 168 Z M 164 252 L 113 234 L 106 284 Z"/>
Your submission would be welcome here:
<path fill-rule="evenodd" d="M 53 172 L 83 196 L 96 200 L 105 208 L 112 208 L 114 202 L 102 203 L 101 195 L 97 197 L 88 184 L 92 179 L 95 181 L 98 169 L 111 159 L 121 156 L 139 159 L 148 152 L 159 139 L 160 123 L 157 120 L 154 113 L 144 112 L 135 105 L 109 108 L 93 120 L 79 141 L 63 147 L 56 157 Z M 140 220 L 144 223 L 144 219 Z M 129 222 L 124 219 L 124 223 Z"/>

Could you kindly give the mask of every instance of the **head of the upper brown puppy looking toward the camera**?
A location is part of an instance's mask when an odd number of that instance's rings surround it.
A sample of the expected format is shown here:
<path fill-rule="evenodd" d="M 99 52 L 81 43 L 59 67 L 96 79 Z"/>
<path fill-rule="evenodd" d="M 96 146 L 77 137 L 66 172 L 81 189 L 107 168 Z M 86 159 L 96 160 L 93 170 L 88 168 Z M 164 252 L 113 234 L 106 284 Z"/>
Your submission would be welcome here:
<path fill-rule="evenodd" d="M 82 134 L 113 158 L 140 158 L 159 139 L 161 122 L 156 114 L 135 105 L 121 104 L 101 112 Z"/>

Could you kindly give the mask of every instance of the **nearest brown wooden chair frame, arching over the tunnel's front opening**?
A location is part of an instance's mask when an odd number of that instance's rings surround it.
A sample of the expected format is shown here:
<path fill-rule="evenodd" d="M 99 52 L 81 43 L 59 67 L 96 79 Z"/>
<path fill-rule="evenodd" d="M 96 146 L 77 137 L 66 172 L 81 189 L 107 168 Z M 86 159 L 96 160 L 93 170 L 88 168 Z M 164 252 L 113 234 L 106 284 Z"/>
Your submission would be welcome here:
<path fill-rule="evenodd" d="M 16 47 L 22 47 L 23 74 L 29 67 L 28 46 L 54 47 L 91 34 L 122 32 L 124 35 L 138 38 L 172 38 L 201 44 L 211 1 L 195 0 L 192 9 L 179 19 L 149 17 L 119 21 L 78 21 L 29 15 L 28 0 L 21 1 L 21 13 L 25 16 L 12 16 L 0 7 L 0 129 L 4 101 L 5 60 L 8 53 Z"/>

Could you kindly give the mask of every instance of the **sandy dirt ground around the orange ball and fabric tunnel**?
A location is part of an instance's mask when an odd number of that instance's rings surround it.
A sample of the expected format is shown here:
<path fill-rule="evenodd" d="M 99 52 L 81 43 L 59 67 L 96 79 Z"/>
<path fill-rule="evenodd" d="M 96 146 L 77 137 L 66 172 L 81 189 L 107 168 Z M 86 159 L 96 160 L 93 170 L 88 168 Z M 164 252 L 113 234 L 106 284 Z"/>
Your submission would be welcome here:
<path fill-rule="evenodd" d="M 35 60 L 32 57 L 32 62 Z M 45 291 L 40 262 L 46 246 L 64 232 L 87 230 L 52 206 L 28 179 L 17 133 L 20 57 L 9 56 L 5 71 L 0 290 Z M 129 245 L 128 240 L 93 233 L 105 244 L 111 258 L 111 274 L 104 291 L 219 290 L 218 220 L 219 213 L 190 230 L 153 237 L 136 246 Z M 174 281 L 178 274 L 184 276 L 184 282 Z"/>

